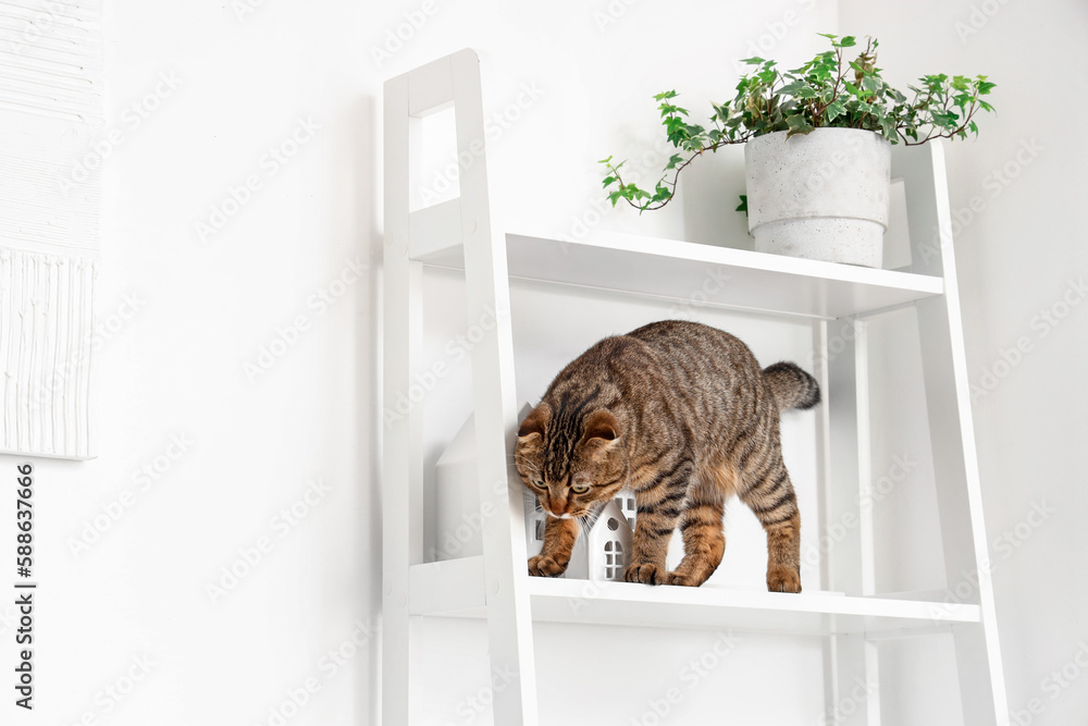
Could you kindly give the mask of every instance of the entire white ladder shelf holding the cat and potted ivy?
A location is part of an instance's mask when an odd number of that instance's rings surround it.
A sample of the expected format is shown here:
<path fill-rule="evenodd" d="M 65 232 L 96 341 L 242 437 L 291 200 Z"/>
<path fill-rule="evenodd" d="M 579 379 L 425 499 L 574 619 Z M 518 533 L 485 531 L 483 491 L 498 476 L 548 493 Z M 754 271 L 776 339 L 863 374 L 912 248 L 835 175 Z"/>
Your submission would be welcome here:
<path fill-rule="evenodd" d="M 963 723 L 1007 725 L 940 143 L 894 147 L 892 172 L 906 184 L 913 231 L 913 262 L 906 271 L 622 234 L 560 242 L 493 229 L 482 98 L 480 60 L 471 50 L 385 84 L 384 399 L 392 402 L 408 391 L 423 364 L 423 266 L 462 269 L 469 320 L 481 319 L 487 310 L 498 312 L 492 334 L 472 349 L 472 390 L 481 506 L 509 516 L 485 519 L 482 556 L 425 562 L 422 414 L 411 408 L 386 429 L 383 724 L 410 723 L 409 617 L 442 615 L 486 618 L 493 668 L 517 674 L 510 687 L 494 693 L 494 719 L 502 726 L 539 723 L 534 619 L 823 637 L 828 704 L 845 698 L 858 678 L 879 682 L 876 649 L 881 640 L 951 632 Z M 474 161 L 460 170 L 458 199 L 409 212 L 421 119 L 450 106 L 458 155 L 469 153 Z M 938 244 L 923 234 L 931 230 L 939 231 Z M 815 371 L 826 401 L 818 409 L 820 529 L 844 516 L 861 522 L 836 545 L 833 556 L 821 562 L 824 585 L 836 592 L 654 588 L 529 577 L 522 485 L 510 465 L 518 427 L 510 278 L 682 298 L 707 266 L 730 275 L 730 284 L 720 286 L 709 305 L 811 318 L 817 349 L 827 349 L 829 322 L 853 327 L 846 349 Z M 904 306 L 914 306 L 918 316 L 945 575 L 950 585 L 965 574 L 977 578 L 973 596 L 957 604 L 924 595 L 873 594 L 871 520 L 858 496 L 870 485 L 865 321 Z M 838 723 L 878 726 L 879 691 L 867 698 L 865 709 Z"/>

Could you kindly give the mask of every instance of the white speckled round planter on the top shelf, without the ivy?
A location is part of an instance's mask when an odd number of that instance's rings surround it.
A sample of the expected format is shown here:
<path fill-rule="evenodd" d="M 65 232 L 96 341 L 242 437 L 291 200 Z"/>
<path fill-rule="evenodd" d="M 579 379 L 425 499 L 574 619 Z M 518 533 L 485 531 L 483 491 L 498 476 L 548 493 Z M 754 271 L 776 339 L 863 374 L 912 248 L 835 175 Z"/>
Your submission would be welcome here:
<path fill-rule="evenodd" d="M 888 229 L 891 144 L 869 131 L 786 132 L 744 145 L 756 251 L 879 268 Z"/>

